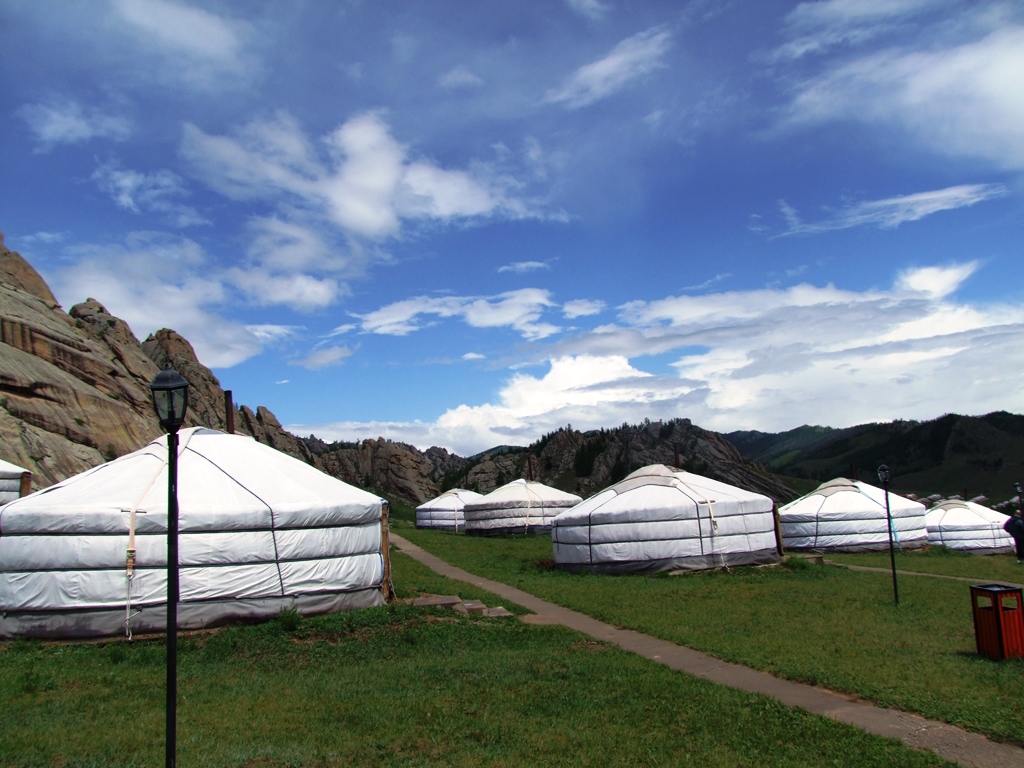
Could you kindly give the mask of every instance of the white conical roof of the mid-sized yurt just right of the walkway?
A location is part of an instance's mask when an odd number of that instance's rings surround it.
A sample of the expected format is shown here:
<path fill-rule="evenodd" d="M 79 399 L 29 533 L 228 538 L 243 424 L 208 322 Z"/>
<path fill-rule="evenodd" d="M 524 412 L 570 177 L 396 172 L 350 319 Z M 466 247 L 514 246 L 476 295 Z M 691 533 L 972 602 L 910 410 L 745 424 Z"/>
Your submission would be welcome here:
<path fill-rule="evenodd" d="M 659 516 L 680 503 L 738 505 L 751 512 L 772 508 L 772 500 L 767 496 L 692 472 L 652 464 L 560 513 L 555 524 L 571 524 L 573 520 L 591 515 L 624 521 L 643 519 L 652 514 Z"/>

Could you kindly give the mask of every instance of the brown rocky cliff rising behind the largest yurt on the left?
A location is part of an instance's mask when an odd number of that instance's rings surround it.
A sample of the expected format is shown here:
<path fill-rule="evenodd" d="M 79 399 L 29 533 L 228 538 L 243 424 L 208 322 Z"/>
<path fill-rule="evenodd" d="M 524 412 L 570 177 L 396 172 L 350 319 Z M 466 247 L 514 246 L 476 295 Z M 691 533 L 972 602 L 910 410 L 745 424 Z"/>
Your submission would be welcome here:
<path fill-rule="evenodd" d="M 33 489 L 158 437 L 148 385 L 166 366 L 189 384 L 185 426 L 227 429 L 224 390 L 186 339 L 164 329 L 139 343 L 95 299 L 65 312 L 0 234 L 0 459 L 32 470 Z M 422 454 L 383 439 L 322 460 L 326 443 L 296 437 L 268 409 L 232 406 L 232 414 L 238 433 L 346 482 L 416 504 L 436 496 L 440 473 L 464 462 L 443 449 Z"/>

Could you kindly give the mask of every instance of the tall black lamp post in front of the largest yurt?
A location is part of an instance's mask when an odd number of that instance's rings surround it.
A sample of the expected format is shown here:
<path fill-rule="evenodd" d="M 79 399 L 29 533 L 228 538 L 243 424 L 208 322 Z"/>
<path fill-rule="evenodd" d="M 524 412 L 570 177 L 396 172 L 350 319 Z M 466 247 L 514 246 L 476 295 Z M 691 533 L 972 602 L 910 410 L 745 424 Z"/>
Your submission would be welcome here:
<path fill-rule="evenodd" d="M 188 410 L 188 382 L 172 368 L 150 384 L 153 407 L 167 432 L 167 736 L 166 766 L 177 761 L 178 698 L 178 429 Z"/>

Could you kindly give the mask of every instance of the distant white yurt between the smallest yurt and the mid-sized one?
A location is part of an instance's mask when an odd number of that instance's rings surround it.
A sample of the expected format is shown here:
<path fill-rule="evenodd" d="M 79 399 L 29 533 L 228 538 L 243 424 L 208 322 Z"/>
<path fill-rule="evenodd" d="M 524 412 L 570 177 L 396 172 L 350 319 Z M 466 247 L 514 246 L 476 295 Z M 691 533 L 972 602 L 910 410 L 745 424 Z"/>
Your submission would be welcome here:
<path fill-rule="evenodd" d="M 470 536 L 546 534 L 559 512 L 583 501 L 534 480 L 513 480 L 463 508 Z"/>

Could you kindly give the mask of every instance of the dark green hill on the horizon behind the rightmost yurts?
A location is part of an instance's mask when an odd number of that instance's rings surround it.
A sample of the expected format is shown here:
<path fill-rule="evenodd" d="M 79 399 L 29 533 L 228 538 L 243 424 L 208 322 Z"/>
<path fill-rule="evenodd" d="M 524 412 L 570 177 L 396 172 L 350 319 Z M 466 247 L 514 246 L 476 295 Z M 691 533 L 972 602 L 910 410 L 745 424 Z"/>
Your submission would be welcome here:
<path fill-rule="evenodd" d="M 731 432 L 724 437 L 770 472 L 805 481 L 850 477 L 877 484 L 876 471 L 887 464 L 894 490 L 984 495 L 993 503 L 1011 498 L 1014 483 L 1024 482 L 1024 416 L 1005 411 L 847 429 Z"/>

